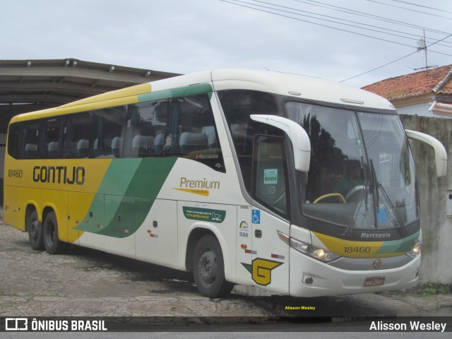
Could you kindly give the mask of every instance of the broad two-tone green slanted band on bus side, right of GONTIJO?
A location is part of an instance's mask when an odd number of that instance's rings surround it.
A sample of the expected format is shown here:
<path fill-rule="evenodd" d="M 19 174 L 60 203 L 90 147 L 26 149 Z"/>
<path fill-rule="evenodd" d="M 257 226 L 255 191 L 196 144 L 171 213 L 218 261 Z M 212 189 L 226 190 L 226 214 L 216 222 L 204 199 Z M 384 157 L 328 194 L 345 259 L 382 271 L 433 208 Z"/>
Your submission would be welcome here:
<path fill-rule="evenodd" d="M 113 160 L 85 215 L 88 222 L 75 228 L 117 238 L 135 233 L 176 160 L 176 157 Z"/>

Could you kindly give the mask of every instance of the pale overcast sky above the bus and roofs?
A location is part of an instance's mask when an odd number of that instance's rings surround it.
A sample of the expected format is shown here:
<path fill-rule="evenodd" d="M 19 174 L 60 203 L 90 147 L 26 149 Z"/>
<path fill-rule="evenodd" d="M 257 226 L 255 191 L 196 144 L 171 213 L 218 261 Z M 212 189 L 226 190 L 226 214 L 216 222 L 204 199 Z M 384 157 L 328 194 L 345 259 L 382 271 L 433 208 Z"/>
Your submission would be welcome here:
<path fill-rule="evenodd" d="M 355 87 L 424 67 L 424 30 L 428 65 L 452 64 L 451 0 L 0 0 L 0 59 L 268 69 L 334 81 L 400 59 L 345 81 Z"/>

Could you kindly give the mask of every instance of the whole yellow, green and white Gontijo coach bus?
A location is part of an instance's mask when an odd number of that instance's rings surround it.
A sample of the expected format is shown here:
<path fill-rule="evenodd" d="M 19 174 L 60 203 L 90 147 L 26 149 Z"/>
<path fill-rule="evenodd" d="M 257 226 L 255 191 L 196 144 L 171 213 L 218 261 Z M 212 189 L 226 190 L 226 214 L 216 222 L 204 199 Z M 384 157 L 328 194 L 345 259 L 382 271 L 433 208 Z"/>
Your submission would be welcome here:
<path fill-rule="evenodd" d="M 415 285 L 422 233 L 390 102 L 340 83 L 217 69 L 13 117 L 4 221 L 30 246 L 86 246 L 192 272 L 201 295 Z"/>

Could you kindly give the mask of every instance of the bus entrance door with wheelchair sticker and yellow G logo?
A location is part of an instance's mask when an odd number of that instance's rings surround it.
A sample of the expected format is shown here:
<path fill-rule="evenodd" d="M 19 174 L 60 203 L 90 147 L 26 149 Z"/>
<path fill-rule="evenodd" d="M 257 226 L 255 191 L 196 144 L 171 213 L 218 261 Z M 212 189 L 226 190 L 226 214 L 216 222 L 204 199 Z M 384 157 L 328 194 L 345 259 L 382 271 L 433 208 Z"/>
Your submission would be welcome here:
<path fill-rule="evenodd" d="M 257 136 L 254 143 L 251 196 L 265 209 L 251 209 L 253 284 L 289 292 L 289 245 L 278 231 L 290 234 L 290 187 L 285 141 Z"/>

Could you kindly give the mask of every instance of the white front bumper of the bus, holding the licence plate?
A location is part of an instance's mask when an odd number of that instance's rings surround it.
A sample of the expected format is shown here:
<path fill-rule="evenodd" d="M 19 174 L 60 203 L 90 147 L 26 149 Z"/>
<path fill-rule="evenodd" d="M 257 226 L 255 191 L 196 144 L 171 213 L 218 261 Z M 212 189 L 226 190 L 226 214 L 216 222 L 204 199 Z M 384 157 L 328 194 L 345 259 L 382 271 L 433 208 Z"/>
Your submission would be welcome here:
<path fill-rule="evenodd" d="M 381 258 L 378 269 L 345 270 L 290 249 L 290 295 L 320 297 L 410 288 L 417 282 L 420 257 L 396 268 L 384 269 L 385 260 L 391 258 Z"/>

